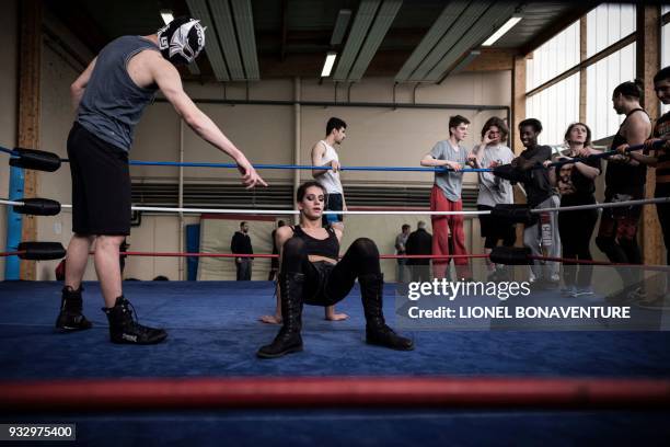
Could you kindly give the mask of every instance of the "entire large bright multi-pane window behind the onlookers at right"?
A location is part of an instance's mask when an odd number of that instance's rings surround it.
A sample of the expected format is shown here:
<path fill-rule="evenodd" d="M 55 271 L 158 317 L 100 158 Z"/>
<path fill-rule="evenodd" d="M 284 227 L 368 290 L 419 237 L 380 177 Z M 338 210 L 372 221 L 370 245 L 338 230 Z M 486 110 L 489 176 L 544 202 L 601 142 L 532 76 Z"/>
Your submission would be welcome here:
<path fill-rule="evenodd" d="M 663 7 L 663 12 L 668 10 Z M 525 110 L 528 117 L 543 123 L 544 144 L 561 144 L 567 125 L 580 119 L 589 125 L 593 139 L 616 133 L 624 117 L 612 108 L 612 91 L 635 79 L 636 15 L 635 4 L 600 4 L 581 19 L 585 35 L 577 21 L 533 51 L 527 61 Z M 668 65 L 670 28 L 665 26 L 661 33 Z M 586 51 L 580 54 L 580 48 Z M 586 76 L 585 83 L 579 82 L 580 76 Z"/>

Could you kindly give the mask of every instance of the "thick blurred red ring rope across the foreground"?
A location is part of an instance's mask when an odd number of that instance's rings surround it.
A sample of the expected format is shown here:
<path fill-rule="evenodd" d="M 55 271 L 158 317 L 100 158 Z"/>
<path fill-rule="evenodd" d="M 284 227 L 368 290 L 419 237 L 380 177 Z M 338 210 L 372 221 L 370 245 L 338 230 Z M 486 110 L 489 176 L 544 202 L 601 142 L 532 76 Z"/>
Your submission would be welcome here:
<path fill-rule="evenodd" d="M 291 377 L 0 382 L 4 411 L 205 408 L 668 408 L 670 380 Z"/>

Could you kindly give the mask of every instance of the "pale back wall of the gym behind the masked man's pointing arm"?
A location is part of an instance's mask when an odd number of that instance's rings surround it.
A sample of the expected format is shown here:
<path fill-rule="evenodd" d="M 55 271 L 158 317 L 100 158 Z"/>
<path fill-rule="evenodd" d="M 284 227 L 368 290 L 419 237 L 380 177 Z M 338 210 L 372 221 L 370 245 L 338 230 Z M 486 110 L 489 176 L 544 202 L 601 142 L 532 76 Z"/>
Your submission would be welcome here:
<path fill-rule="evenodd" d="M 417 89 L 418 103 L 442 104 L 500 104 L 509 105 L 509 71 L 469 73 L 449 78 L 442 85 Z M 187 92 L 194 99 L 223 99 L 219 84 L 187 84 Z M 301 81 L 303 101 L 333 101 L 333 84 L 320 85 L 316 80 Z M 227 98 L 243 100 L 245 91 L 240 85 L 227 88 Z M 338 100 L 347 92 L 338 89 Z M 289 101 L 293 98 L 293 81 L 262 81 L 251 85 L 251 100 Z M 392 79 L 372 79 L 351 88 L 353 102 L 388 102 L 393 100 Z M 396 92 L 397 102 L 412 101 L 412 88 L 401 87 Z M 200 104 L 221 127 L 227 136 L 254 163 L 292 163 L 294 123 L 290 105 L 223 105 Z M 465 141 L 472 146 L 478 141 L 478 131 L 493 115 L 505 117 L 504 111 L 459 111 L 459 110 L 406 110 L 392 107 L 347 107 L 347 106 L 302 106 L 301 107 L 301 162 L 308 164 L 312 145 L 322 139 L 325 124 L 331 116 L 338 116 L 348 124 L 347 139 L 339 148 L 345 165 L 417 165 L 439 139 L 448 137 L 449 116 L 460 113 L 472 121 L 472 135 Z M 131 158 L 137 160 L 178 160 L 178 117 L 166 103 L 150 106 L 137 129 Z M 226 156 L 203 141 L 190 129 L 184 134 L 184 158 L 186 161 L 230 162 Z M 383 163 L 380 163 L 383 159 Z M 270 181 L 290 182 L 290 171 L 264 171 Z M 309 172 L 301 172 L 308 177 Z M 163 167 L 132 168 L 134 179 L 176 179 L 177 170 Z M 187 168 L 186 180 L 236 181 L 234 170 Z M 429 182 L 425 173 L 394 173 L 391 181 Z M 388 173 L 347 172 L 345 182 L 388 182 Z"/>

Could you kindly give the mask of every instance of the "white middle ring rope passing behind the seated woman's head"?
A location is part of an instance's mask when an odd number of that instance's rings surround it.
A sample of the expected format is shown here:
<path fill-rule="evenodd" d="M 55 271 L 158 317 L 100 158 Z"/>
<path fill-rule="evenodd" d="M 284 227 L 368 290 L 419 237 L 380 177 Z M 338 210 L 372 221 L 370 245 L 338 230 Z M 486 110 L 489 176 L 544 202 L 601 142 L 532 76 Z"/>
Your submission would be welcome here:
<path fill-rule="evenodd" d="M 661 204 L 670 203 L 670 197 L 656 197 L 656 198 L 644 198 L 639 200 L 625 200 L 625 202 L 611 202 L 605 204 L 592 204 L 592 205 L 577 205 L 577 206 L 565 206 L 557 208 L 535 208 L 531 209 L 531 213 L 557 213 L 557 211 L 576 211 L 581 209 L 598 209 L 598 208 L 619 208 L 625 206 L 637 206 L 637 205 L 649 205 L 649 204 Z M 13 202 L 0 199 L 0 205 L 10 206 L 23 206 L 23 202 Z M 61 208 L 71 208 L 72 205 L 60 205 Z M 222 215 L 239 215 L 239 214 L 256 214 L 256 215 L 298 215 L 299 210 L 296 209 L 217 209 L 217 208 L 166 208 L 166 207 L 151 207 L 151 206 L 132 206 L 134 211 L 151 211 L 151 213 L 184 213 L 184 214 L 222 214 Z M 489 215 L 490 210 L 481 211 L 417 211 L 417 210 L 363 210 L 363 211 L 324 211 L 324 215 L 361 215 L 361 216 L 481 216 Z"/>

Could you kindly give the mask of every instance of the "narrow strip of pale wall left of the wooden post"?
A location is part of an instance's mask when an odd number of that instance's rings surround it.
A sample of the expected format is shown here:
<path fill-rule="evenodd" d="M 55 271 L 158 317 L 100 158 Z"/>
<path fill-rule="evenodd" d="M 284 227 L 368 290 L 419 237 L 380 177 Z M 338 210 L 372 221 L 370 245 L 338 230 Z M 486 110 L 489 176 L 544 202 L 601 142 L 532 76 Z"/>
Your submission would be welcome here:
<path fill-rule="evenodd" d="M 16 0 L 3 2 L 3 13 L 0 14 L 0 146 L 13 148 L 16 146 L 16 82 L 18 82 L 18 4 Z M 0 197 L 9 196 L 9 164 L 7 156 L 0 161 Z M 0 251 L 7 243 L 7 207 L 0 206 Z M 0 280 L 4 279 L 4 257 L 0 256 Z"/>

